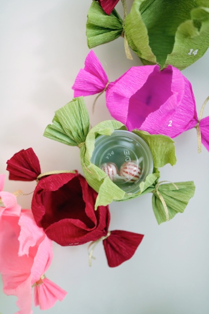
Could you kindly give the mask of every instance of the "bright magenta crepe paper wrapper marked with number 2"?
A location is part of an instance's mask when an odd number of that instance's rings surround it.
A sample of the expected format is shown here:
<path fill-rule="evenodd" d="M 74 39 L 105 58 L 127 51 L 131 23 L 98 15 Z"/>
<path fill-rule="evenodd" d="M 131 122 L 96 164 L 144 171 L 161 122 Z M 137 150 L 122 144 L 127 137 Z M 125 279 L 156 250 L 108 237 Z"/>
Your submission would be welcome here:
<path fill-rule="evenodd" d="M 198 122 L 192 86 L 171 65 L 162 71 L 158 65 L 131 67 L 120 78 L 108 83 L 99 59 L 91 50 L 85 59 L 85 68 L 79 71 L 72 88 L 75 97 L 106 91 L 110 114 L 129 131 L 141 129 L 174 138 Z M 201 142 L 207 150 L 208 119 L 199 123 Z"/>

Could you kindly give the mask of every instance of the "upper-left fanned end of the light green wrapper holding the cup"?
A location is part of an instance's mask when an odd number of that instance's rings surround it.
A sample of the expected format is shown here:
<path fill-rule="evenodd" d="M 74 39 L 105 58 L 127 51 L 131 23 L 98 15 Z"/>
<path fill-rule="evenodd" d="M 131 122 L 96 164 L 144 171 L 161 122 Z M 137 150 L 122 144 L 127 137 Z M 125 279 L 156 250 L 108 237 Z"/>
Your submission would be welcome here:
<path fill-rule="evenodd" d="M 55 111 L 52 125 L 46 127 L 43 135 L 70 146 L 79 146 L 85 142 L 88 131 L 89 115 L 81 96 Z"/>

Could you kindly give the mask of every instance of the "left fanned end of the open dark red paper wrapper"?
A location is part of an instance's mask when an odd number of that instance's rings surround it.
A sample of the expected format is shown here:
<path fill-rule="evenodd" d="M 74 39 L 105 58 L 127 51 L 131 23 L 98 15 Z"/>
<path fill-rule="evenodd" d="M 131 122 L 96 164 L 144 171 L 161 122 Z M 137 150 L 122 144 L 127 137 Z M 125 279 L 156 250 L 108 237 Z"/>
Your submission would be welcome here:
<path fill-rule="evenodd" d="M 41 173 L 39 160 L 32 148 L 22 149 L 7 161 L 10 180 L 33 181 Z"/>

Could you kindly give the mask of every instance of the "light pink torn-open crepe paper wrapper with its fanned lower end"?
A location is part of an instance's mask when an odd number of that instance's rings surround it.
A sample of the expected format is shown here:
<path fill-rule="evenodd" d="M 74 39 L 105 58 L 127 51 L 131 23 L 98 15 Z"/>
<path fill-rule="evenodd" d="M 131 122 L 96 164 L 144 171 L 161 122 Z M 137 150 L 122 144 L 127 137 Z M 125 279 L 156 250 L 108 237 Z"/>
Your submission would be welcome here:
<path fill-rule="evenodd" d="M 18 214 L 18 213 L 17 213 Z M 18 314 L 32 313 L 32 285 L 40 282 L 52 261 L 52 241 L 39 228 L 30 210 L 0 218 L 0 272 L 3 291 L 18 297 Z M 35 305 L 48 309 L 66 292 L 44 278 L 36 286 Z"/>

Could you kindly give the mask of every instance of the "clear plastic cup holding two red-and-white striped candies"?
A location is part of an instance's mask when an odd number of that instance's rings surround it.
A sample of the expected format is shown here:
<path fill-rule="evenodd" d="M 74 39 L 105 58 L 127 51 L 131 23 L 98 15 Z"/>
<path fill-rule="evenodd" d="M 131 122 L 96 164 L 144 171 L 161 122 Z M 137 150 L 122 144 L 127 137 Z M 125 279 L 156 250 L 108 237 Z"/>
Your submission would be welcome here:
<path fill-rule="evenodd" d="M 115 130 L 95 140 L 91 163 L 100 167 L 126 193 L 140 191 L 140 182 L 153 171 L 147 143 L 135 133 Z"/>

